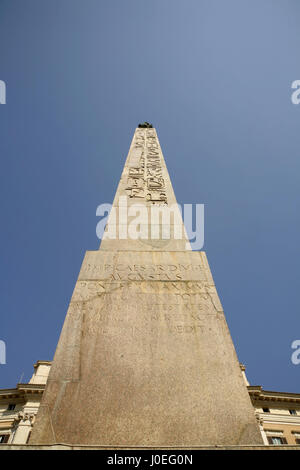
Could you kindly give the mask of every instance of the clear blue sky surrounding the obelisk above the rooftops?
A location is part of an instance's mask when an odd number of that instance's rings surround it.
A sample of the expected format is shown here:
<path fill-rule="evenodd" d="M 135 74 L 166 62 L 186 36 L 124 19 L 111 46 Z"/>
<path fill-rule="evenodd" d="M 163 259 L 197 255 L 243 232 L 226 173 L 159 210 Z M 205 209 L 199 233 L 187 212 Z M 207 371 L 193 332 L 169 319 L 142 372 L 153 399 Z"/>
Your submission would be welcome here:
<path fill-rule="evenodd" d="M 297 0 L 0 1 L 0 387 L 52 359 L 96 207 L 147 120 L 178 202 L 205 204 L 249 380 L 300 392 L 299 18 Z"/>

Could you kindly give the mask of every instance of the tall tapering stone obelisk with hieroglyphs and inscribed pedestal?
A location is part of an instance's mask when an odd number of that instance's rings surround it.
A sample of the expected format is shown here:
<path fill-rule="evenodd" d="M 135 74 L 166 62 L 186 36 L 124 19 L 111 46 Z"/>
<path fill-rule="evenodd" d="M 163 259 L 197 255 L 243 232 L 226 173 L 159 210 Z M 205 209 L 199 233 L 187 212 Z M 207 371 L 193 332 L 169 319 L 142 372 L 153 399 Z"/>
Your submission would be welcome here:
<path fill-rule="evenodd" d="M 30 444 L 262 444 L 205 253 L 178 238 L 180 214 L 169 237 L 164 220 L 151 237 L 146 215 L 143 236 L 129 237 L 124 209 L 135 204 L 176 204 L 147 123 L 100 249 L 84 257 Z"/>

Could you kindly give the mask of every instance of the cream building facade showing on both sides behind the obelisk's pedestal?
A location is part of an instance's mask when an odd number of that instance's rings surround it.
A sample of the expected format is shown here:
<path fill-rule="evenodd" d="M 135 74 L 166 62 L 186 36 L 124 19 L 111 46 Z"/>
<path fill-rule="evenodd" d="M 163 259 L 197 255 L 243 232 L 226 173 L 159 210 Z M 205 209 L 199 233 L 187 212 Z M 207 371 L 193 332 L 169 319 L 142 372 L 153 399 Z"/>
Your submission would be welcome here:
<path fill-rule="evenodd" d="M 29 441 L 47 378 L 50 361 L 37 361 L 34 374 L 26 384 L 14 389 L 0 389 L 0 445 Z M 251 386 L 241 370 L 253 404 L 265 445 L 300 445 L 300 393 L 263 390 Z"/>

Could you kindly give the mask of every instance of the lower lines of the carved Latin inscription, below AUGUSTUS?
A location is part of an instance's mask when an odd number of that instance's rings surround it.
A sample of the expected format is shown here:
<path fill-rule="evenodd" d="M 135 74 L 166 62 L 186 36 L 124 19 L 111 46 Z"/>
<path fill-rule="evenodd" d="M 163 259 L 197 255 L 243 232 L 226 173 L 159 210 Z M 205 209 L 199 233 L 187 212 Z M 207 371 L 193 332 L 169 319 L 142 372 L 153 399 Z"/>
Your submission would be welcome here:
<path fill-rule="evenodd" d="M 151 286 L 151 284 L 153 284 Z M 158 289 L 154 286 L 158 285 Z M 206 334 L 208 318 L 219 318 L 213 286 L 201 282 L 107 283 L 78 281 L 70 309 L 84 318 L 84 335 L 142 331 L 159 336 Z"/>

